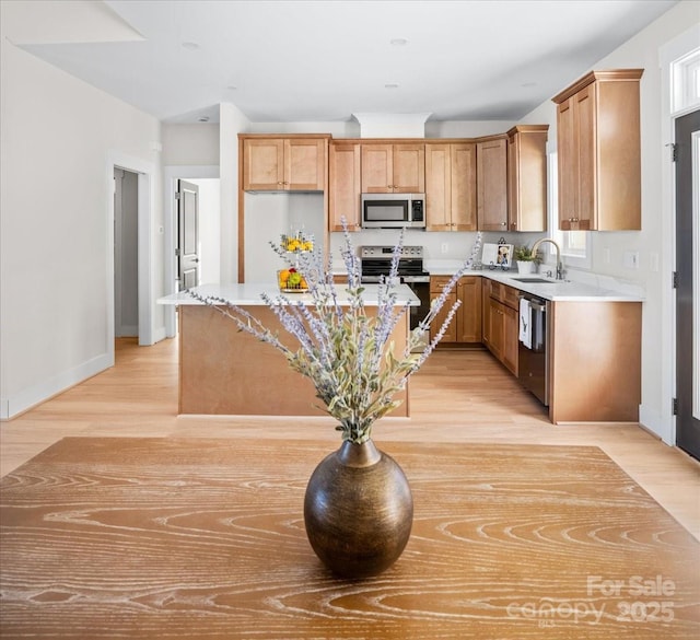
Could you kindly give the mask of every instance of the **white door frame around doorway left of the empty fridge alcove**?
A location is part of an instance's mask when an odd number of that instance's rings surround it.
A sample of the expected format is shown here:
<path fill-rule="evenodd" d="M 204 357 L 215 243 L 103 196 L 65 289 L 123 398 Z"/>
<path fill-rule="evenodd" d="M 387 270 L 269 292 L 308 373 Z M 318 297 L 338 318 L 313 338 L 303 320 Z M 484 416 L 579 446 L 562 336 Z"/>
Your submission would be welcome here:
<path fill-rule="evenodd" d="M 218 164 L 201 165 L 168 165 L 163 167 L 163 202 L 164 202 L 164 295 L 177 293 L 177 266 L 175 265 L 175 249 L 177 248 L 177 202 L 175 191 L 177 181 L 219 178 L 221 172 Z M 166 305 L 165 311 L 165 336 L 174 338 L 177 335 L 177 321 L 175 317 L 175 306 Z"/>

